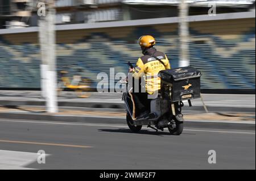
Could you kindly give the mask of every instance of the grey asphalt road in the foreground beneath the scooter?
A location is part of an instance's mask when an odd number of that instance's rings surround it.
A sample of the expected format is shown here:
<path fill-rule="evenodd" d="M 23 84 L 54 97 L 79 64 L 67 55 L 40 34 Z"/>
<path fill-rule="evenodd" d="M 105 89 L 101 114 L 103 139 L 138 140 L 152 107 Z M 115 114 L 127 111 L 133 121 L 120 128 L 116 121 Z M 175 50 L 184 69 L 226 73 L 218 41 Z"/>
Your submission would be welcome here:
<path fill-rule="evenodd" d="M 255 169 L 255 132 L 0 119 L 0 169 Z M 38 163 L 44 150 L 46 163 Z M 216 163 L 208 163 L 208 151 Z"/>

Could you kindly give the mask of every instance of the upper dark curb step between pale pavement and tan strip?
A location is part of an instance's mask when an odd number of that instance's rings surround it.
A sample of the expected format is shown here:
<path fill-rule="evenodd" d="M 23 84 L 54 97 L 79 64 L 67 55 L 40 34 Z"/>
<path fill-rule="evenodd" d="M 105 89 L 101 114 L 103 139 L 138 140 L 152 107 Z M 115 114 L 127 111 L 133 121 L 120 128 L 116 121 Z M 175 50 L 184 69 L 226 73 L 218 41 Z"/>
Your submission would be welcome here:
<path fill-rule="evenodd" d="M 43 100 L 38 101 L 18 101 L 18 100 L 1 100 L 3 106 L 45 106 Z M 58 102 L 59 107 L 86 107 L 86 108 L 110 108 L 125 109 L 124 103 L 108 103 L 108 102 Z M 189 111 L 205 111 L 203 106 L 184 106 L 184 110 Z M 255 107 L 217 107 L 207 106 L 209 112 L 255 112 Z"/>

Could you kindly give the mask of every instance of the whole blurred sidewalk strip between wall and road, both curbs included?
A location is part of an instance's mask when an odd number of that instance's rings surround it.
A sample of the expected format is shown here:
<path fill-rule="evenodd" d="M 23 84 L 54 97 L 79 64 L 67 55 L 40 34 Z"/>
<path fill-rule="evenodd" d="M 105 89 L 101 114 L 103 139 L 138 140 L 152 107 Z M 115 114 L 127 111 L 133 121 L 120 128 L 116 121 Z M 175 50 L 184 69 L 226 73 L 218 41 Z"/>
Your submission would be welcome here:
<path fill-rule="evenodd" d="M 186 127 L 255 130 L 255 95 L 203 94 L 183 107 Z M 126 124 L 121 93 L 91 92 L 89 98 L 77 98 L 75 92 L 62 92 L 59 112 L 46 112 L 40 91 L 0 91 L 0 119 L 26 121 L 67 121 L 97 124 Z"/>

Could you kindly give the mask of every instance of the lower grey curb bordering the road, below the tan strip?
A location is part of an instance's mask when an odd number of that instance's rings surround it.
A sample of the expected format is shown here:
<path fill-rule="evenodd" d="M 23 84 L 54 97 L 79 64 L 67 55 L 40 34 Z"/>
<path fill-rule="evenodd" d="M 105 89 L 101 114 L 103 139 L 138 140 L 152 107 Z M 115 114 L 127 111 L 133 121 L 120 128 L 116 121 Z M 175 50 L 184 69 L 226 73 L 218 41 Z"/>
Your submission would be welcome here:
<path fill-rule="evenodd" d="M 104 119 L 102 119 L 104 118 Z M 64 115 L 42 115 L 39 113 L 0 113 L 0 119 L 22 119 L 40 121 L 63 121 L 80 123 L 101 123 L 101 124 L 126 124 L 125 117 L 108 116 L 64 116 Z M 239 129 L 255 131 L 255 123 L 228 123 L 217 121 L 184 121 L 184 126 L 188 128 L 208 128 L 208 129 Z"/>

